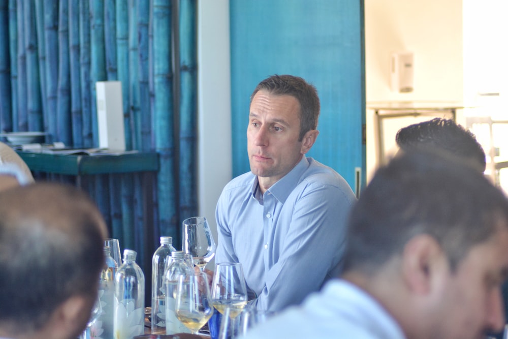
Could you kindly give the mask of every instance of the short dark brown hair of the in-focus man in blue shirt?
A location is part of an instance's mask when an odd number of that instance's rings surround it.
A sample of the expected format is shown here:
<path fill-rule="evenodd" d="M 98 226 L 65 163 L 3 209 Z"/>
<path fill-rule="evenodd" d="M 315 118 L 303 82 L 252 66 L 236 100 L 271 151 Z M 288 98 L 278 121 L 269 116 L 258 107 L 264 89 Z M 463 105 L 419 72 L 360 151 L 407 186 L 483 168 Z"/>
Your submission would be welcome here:
<path fill-rule="evenodd" d="M 300 136 L 302 141 L 305 133 L 317 129 L 317 119 L 320 114 L 320 101 L 316 88 L 303 78 L 293 75 L 272 75 L 261 81 L 252 94 L 250 103 L 260 90 L 266 90 L 272 95 L 288 95 L 296 98 L 300 103 Z"/>

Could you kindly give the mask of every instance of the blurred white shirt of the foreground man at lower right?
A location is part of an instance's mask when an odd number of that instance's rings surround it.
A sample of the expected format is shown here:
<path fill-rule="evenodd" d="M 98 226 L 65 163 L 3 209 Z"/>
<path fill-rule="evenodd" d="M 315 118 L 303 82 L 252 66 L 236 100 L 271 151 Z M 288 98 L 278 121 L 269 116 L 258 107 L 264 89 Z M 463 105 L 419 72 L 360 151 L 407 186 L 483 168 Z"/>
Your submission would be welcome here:
<path fill-rule="evenodd" d="M 329 281 L 301 306 L 291 307 L 243 339 L 404 339 L 395 320 L 371 296 L 340 279 Z"/>

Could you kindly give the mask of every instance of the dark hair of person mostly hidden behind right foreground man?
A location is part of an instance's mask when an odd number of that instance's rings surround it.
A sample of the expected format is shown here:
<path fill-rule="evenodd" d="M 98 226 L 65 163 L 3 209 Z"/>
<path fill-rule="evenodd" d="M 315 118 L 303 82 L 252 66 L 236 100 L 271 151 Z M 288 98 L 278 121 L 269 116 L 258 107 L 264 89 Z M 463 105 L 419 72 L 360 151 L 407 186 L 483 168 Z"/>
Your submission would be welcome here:
<path fill-rule="evenodd" d="M 440 148 L 468 159 L 473 166 L 485 171 L 485 151 L 474 134 L 451 119 L 434 118 L 401 128 L 395 136 L 404 151 L 414 147 Z"/>

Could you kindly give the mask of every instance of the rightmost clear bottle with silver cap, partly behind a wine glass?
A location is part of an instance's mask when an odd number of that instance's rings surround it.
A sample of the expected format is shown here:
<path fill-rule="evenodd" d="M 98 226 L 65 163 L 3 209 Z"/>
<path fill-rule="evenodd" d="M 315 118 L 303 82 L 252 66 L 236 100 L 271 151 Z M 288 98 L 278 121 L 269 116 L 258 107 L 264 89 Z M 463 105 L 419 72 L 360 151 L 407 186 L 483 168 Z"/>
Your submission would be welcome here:
<path fill-rule="evenodd" d="M 166 268 L 166 334 L 190 333 L 190 330 L 176 318 L 176 293 L 180 276 L 188 276 L 194 270 L 184 258 L 182 251 L 171 253 Z"/>

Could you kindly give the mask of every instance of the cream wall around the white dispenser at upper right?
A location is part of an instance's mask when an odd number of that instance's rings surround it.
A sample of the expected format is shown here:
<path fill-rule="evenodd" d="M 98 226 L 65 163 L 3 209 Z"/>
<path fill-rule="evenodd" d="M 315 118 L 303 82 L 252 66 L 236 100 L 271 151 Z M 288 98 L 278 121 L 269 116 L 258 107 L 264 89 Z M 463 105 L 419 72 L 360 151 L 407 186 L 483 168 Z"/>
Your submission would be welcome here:
<path fill-rule="evenodd" d="M 462 0 L 365 0 L 367 103 L 461 102 L 462 30 Z M 414 53 L 412 93 L 396 93 L 390 89 L 390 55 L 395 51 Z M 371 110 L 367 110 L 366 123 L 367 180 L 369 180 L 376 167 Z M 393 137 L 395 132 L 391 131 Z"/>

